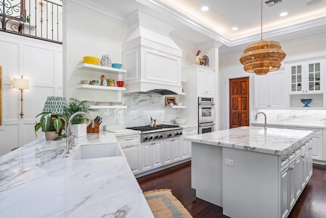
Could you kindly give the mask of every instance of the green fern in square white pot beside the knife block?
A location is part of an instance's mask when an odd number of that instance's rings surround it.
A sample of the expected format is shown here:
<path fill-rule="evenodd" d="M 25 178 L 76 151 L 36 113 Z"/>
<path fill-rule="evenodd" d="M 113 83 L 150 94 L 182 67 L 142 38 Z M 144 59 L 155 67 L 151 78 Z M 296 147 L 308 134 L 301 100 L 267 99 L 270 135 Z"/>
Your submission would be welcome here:
<path fill-rule="evenodd" d="M 78 111 L 83 112 L 95 112 L 96 109 L 90 108 L 89 105 L 86 105 L 85 103 L 87 101 L 79 101 L 77 99 L 69 99 L 68 107 L 64 109 L 63 115 L 70 118 L 72 114 Z M 84 117 L 83 114 L 77 114 L 71 119 L 71 126 L 70 131 L 72 135 L 75 135 L 76 137 L 82 137 L 86 136 L 87 134 L 87 123 L 90 121 L 90 119 Z"/>

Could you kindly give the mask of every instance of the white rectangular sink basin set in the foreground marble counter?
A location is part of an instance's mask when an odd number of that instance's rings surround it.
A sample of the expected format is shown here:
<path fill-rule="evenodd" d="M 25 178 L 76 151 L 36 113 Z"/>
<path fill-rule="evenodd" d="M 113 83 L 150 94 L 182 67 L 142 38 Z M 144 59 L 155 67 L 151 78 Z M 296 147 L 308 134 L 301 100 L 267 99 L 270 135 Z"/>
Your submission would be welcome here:
<path fill-rule="evenodd" d="M 79 146 L 74 159 L 80 160 L 119 156 L 123 156 L 119 144 L 85 144 Z"/>

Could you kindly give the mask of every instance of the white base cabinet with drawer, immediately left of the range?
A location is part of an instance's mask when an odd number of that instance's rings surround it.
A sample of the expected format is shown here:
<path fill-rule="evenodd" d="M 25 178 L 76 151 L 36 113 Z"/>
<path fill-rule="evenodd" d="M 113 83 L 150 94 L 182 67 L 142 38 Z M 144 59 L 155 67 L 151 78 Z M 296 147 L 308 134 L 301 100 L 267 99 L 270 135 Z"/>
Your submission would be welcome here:
<path fill-rule="evenodd" d="M 140 134 L 116 136 L 133 174 L 141 172 Z"/>

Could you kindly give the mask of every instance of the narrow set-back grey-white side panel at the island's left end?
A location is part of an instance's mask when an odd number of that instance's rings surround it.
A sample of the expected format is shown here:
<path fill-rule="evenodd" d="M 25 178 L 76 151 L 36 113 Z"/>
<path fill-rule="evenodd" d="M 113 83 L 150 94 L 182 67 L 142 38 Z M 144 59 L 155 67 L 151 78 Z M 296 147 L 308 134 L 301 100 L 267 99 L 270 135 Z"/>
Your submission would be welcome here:
<path fill-rule="evenodd" d="M 192 188 L 196 197 L 223 207 L 222 147 L 192 142 Z"/>

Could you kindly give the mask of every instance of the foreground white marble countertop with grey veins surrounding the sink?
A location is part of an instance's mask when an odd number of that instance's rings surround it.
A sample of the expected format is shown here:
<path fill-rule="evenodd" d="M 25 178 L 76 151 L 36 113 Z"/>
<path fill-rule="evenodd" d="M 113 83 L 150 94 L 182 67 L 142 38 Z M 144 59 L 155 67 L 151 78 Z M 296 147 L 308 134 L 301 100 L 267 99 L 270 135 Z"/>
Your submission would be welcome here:
<path fill-rule="evenodd" d="M 73 160 L 82 144 L 117 143 L 106 131 L 66 141 L 44 136 L 0 157 L 0 217 L 153 217 L 124 156 Z"/>

